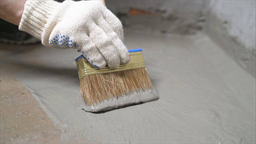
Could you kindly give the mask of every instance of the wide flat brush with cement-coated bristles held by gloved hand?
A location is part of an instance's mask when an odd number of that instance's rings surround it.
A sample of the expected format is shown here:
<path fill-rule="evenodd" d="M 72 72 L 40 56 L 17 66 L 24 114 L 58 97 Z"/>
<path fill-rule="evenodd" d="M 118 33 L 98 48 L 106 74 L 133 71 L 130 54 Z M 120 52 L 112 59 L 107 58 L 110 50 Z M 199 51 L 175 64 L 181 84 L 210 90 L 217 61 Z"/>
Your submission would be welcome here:
<path fill-rule="evenodd" d="M 96 69 L 83 55 L 75 59 L 85 111 L 97 112 L 158 99 L 145 68 L 142 49 L 129 53 L 129 63 L 118 69 L 108 66 Z"/>

